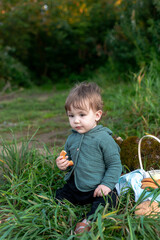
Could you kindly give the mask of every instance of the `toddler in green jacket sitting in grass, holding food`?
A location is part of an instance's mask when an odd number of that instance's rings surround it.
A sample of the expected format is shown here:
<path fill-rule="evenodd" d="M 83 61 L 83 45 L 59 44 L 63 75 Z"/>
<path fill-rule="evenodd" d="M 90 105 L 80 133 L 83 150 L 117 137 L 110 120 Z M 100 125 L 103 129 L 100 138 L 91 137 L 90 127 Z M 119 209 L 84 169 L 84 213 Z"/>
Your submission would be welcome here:
<path fill-rule="evenodd" d="M 98 125 L 102 107 L 100 89 L 95 83 L 76 85 L 65 103 L 72 134 L 65 144 L 66 158 L 59 156 L 56 163 L 60 170 L 68 168 L 68 160 L 74 165 L 65 175 L 67 183 L 57 190 L 56 199 L 80 205 L 91 203 L 86 219 L 77 223 L 75 234 L 90 230 L 88 219 L 100 204 L 116 206 L 115 184 L 122 172 L 120 149 L 111 130 Z"/>

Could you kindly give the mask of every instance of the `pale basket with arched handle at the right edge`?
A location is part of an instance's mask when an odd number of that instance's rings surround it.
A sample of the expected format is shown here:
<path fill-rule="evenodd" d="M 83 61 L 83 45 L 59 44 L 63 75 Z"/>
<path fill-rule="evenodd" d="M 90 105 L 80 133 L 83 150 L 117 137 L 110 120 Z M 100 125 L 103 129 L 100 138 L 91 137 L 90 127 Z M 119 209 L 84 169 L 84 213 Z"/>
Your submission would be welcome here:
<path fill-rule="evenodd" d="M 160 139 L 158 139 L 157 137 L 155 137 L 153 135 L 145 135 L 139 140 L 139 143 L 138 143 L 138 158 L 139 158 L 140 168 L 142 170 L 144 170 L 144 169 L 143 169 L 142 159 L 141 159 L 141 142 L 146 137 L 154 138 L 155 140 L 157 140 L 160 143 Z M 158 170 L 158 169 L 155 169 L 155 170 L 152 169 L 150 171 L 145 171 L 144 170 L 143 178 L 151 178 L 151 177 L 156 179 L 156 180 L 160 179 L 160 170 Z"/>

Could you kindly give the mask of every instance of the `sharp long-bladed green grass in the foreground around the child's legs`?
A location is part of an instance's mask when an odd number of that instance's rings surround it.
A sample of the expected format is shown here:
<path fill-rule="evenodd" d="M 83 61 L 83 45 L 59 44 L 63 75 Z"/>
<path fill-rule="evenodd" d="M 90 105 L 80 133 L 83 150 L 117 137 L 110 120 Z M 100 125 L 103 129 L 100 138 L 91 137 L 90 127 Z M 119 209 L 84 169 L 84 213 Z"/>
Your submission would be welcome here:
<path fill-rule="evenodd" d="M 55 165 L 59 149 L 50 151 L 44 146 L 42 154 L 34 147 L 28 148 L 31 139 L 23 143 L 21 149 L 17 149 L 15 139 L 13 142 L 12 148 L 3 145 L 5 159 L 0 156 L 5 177 L 0 190 L 0 239 L 76 239 L 75 225 L 89 206 L 74 206 L 67 201 L 63 204 L 55 202 L 55 191 L 64 183 L 64 173 Z M 30 161 L 23 158 L 24 167 L 17 173 L 12 170 L 15 163 L 10 156 L 21 156 L 24 150 Z M 7 171 L 4 164 L 8 167 Z M 159 214 L 152 218 L 136 217 L 136 205 L 138 202 L 134 202 L 134 194 L 130 190 L 119 198 L 117 209 L 108 212 L 107 205 L 105 208 L 99 207 L 91 231 L 82 234 L 80 239 L 158 240 Z"/>

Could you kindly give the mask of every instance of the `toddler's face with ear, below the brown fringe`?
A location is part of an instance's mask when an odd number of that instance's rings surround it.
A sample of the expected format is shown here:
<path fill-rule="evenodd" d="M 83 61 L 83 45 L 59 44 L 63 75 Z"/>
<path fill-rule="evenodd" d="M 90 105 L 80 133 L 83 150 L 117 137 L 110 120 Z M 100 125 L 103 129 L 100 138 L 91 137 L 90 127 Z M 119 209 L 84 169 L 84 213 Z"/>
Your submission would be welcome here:
<path fill-rule="evenodd" d="M 102 116 L 102 111 L 94 111 L 86 104 L 86 109 L 77 109 L 71 106 L 67 112 L 71 127 L 79 133 L 86 133 L 97 125 Z"/>

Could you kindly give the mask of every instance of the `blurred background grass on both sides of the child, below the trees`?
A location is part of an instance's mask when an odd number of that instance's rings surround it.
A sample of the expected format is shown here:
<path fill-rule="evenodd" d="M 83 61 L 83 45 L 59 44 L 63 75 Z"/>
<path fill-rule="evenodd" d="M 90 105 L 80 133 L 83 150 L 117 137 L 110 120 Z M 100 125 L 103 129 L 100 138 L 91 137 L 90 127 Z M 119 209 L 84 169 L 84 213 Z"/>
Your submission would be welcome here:
<path fill-rule="evenodd" d="M 104 116 L 102 124 L 111 128 L 115 136 L 142 136 L 145 132 L 159 134 L 160 96 L 159 80 L 149 74 L 145 78 L 135 76 L 130 83 L 106 82 L 104 75 L 94 81 L 102 87 Z M 0 135 L 10 139 L 12 129 L 16 138 L 31 136 L 37 130 L 36 139 L 47 146 L 62 146 L 69 134 L 69 124 L 64 102 L 69 92 L 63 86 L 50 90 L 34 88 L 0 96 Z"/>

